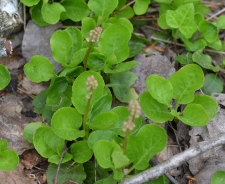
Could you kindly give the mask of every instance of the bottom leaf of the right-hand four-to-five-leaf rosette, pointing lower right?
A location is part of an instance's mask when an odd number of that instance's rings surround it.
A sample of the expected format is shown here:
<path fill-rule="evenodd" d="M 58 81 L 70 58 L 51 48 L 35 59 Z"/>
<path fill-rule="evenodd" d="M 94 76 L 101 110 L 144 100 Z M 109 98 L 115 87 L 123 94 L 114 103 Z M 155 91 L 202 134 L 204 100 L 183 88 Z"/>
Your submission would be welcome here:
<path fill-rule="evenodd" d="M 190 126 L 205 126 L 210 119 L 202 105 L 194 103 L 188 104 L 177 118 Z"/>

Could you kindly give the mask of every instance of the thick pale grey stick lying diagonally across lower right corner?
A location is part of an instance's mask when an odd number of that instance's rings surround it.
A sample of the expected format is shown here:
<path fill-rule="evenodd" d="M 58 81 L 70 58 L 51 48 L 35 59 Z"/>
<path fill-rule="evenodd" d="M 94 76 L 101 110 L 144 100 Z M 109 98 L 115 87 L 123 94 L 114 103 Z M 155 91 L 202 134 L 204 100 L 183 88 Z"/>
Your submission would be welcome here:
<path fill-rule="evenodd" d="M 222 146 L 225 144 L 225 134 L 220 134 L 219 136 L 209 139 L 207 141 L 200 142 L 193 145 L 193 147 L 187 149 L 186 151 L 174 155 L 169 160 L 162 162 L 155 167 L 145 170 L 137 174 L 136 176 L 123 180 L 120 184 L 141 184 L 146 181 L 158 178 L 164 173 L 169 172 L 173 168 L 180 166 L 182 163 L 208 151 L 217 146 Z"/>

